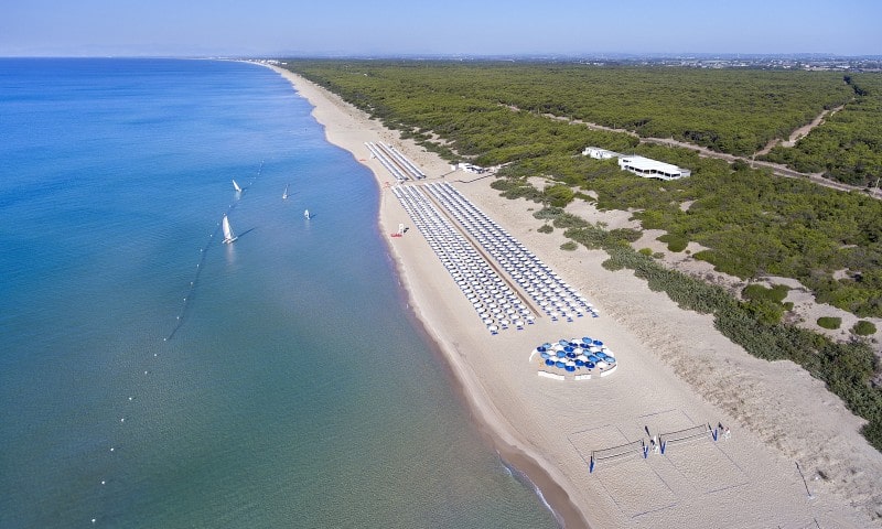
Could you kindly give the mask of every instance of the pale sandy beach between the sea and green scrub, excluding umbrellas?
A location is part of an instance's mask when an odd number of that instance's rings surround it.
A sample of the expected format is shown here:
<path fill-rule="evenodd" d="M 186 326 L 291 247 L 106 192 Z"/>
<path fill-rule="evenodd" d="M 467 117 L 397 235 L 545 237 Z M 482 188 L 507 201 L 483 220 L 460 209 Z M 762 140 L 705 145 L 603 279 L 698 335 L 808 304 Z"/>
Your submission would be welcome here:
<path fill-rule="evenodd" d="M 492 177 L 462 171 L 333 94 L 271 65 L 315 108 L 332 143 L 368 166 L 381 194 L 379 225 L 402 284 L 437 342 L 475 422 L 502 457 L 541 490 L 561 523 L 593 527 L 882 527 L 882 454 L 860 435 L 863 421 L 789 361 L 747 355 L 628 271 L 611 272 L 602 251 L 563 251 L 560 230 L 537 231 L 540 206 L 508 201 Z M 492 336 L 391 193 L 395 179 L 365 142 L 394 145 L 427 175 L 448 182 L 579 289 L 600 317 L 552 322 Z M 424 185 L 409 183 L 407 185 Z M 610 215 L 584 204 L 573 213 Z M 537 376 L 530 352 L 544 342 L 593 336 L 619 359 L 609 377 Z M 709 435 L 649 453 L 601 461 L 591 452 L 690 427 Z M 647 434 L 648 432 L 648 434 Z M 720 432 L 721 433 L 721 432 Z"/>

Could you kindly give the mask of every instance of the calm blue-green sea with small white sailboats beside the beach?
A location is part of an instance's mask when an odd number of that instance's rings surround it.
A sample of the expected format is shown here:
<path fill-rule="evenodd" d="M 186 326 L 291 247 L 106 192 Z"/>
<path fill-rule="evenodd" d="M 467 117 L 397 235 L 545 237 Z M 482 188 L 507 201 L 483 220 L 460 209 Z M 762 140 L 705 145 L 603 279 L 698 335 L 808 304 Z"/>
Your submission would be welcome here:
<path fill-rule="evenodd" d="M 241 62 L 0 60 L 0 527 L 558 527 L 311 110 Z"/>

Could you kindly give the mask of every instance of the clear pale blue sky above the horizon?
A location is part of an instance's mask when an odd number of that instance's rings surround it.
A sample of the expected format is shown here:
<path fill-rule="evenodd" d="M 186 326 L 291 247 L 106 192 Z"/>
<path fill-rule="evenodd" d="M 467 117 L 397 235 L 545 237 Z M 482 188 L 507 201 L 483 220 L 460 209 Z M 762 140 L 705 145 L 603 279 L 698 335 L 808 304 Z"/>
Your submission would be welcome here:
<path fill-rule="evenodd" d="M 882 0 L 9 0 L 0 56 L 882 55 Z"/>

